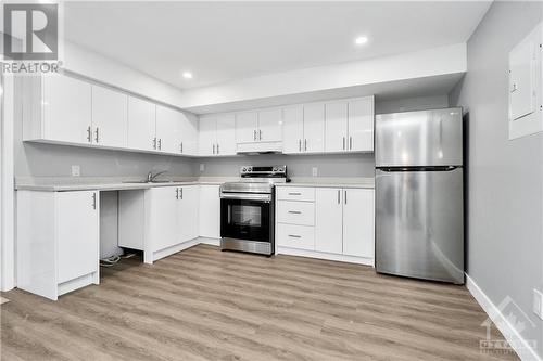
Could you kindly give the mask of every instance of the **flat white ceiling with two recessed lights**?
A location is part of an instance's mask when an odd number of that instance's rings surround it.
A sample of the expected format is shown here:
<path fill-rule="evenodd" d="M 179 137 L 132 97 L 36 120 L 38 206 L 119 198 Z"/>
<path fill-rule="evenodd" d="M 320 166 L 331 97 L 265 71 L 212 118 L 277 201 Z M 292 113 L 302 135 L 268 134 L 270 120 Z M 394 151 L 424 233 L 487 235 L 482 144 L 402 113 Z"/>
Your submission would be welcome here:
<path fill-rule="evenodd" d="M 466 41 L 490 1 L 66 2 L 65 37 L 181 89 Z M 354 38 L 365 35 L 367 44 Z M 193 79 L 184 79 L 190 70 Z"/>

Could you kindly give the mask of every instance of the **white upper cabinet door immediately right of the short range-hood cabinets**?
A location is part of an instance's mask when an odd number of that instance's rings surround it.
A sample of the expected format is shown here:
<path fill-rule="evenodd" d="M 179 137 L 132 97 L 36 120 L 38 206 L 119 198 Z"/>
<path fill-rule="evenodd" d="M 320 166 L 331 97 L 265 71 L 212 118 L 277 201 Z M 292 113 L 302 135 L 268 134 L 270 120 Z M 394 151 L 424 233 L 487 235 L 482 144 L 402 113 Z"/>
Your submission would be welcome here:
<path fill-rule="evenodd" d="M 304 109 L 302 105 L 282 109 L 282 152 L 302 153 L 304 139 Z"/>

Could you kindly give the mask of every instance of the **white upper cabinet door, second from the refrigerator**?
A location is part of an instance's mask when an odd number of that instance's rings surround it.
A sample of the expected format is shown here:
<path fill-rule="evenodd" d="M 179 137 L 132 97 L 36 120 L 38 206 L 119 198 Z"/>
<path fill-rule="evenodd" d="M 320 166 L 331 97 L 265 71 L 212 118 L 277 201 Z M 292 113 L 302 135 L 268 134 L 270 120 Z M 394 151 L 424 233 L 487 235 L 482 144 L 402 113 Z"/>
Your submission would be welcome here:
<path fill-rule="evenodd" d="M 346 152 L 348 146 L 348 103 L 336 102 L 325 105 L 325 151 Z"/>

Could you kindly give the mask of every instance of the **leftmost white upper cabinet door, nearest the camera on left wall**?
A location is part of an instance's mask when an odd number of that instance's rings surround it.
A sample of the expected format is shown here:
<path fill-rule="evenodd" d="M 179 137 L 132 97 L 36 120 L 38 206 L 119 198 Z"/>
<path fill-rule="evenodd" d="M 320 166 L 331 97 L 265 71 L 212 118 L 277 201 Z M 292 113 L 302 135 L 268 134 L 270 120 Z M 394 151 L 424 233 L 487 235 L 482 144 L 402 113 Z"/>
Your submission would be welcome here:
<path fill-rule="evenodd" d="M 42 79 L 43 138 L 90 143 L 91 86 L 61 75 Z"/>

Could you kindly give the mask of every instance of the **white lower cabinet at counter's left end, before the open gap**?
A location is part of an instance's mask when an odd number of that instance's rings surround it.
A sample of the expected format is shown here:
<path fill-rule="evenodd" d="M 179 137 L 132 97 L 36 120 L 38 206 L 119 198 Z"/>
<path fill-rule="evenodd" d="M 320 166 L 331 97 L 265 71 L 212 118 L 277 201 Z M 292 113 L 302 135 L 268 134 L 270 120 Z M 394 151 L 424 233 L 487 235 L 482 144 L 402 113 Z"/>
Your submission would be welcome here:
<path fill-rule="evenodd" d="M 16 194 L 17 287 L 55 300 L 67 292 L 98 284 L 99 193 Z"/>

